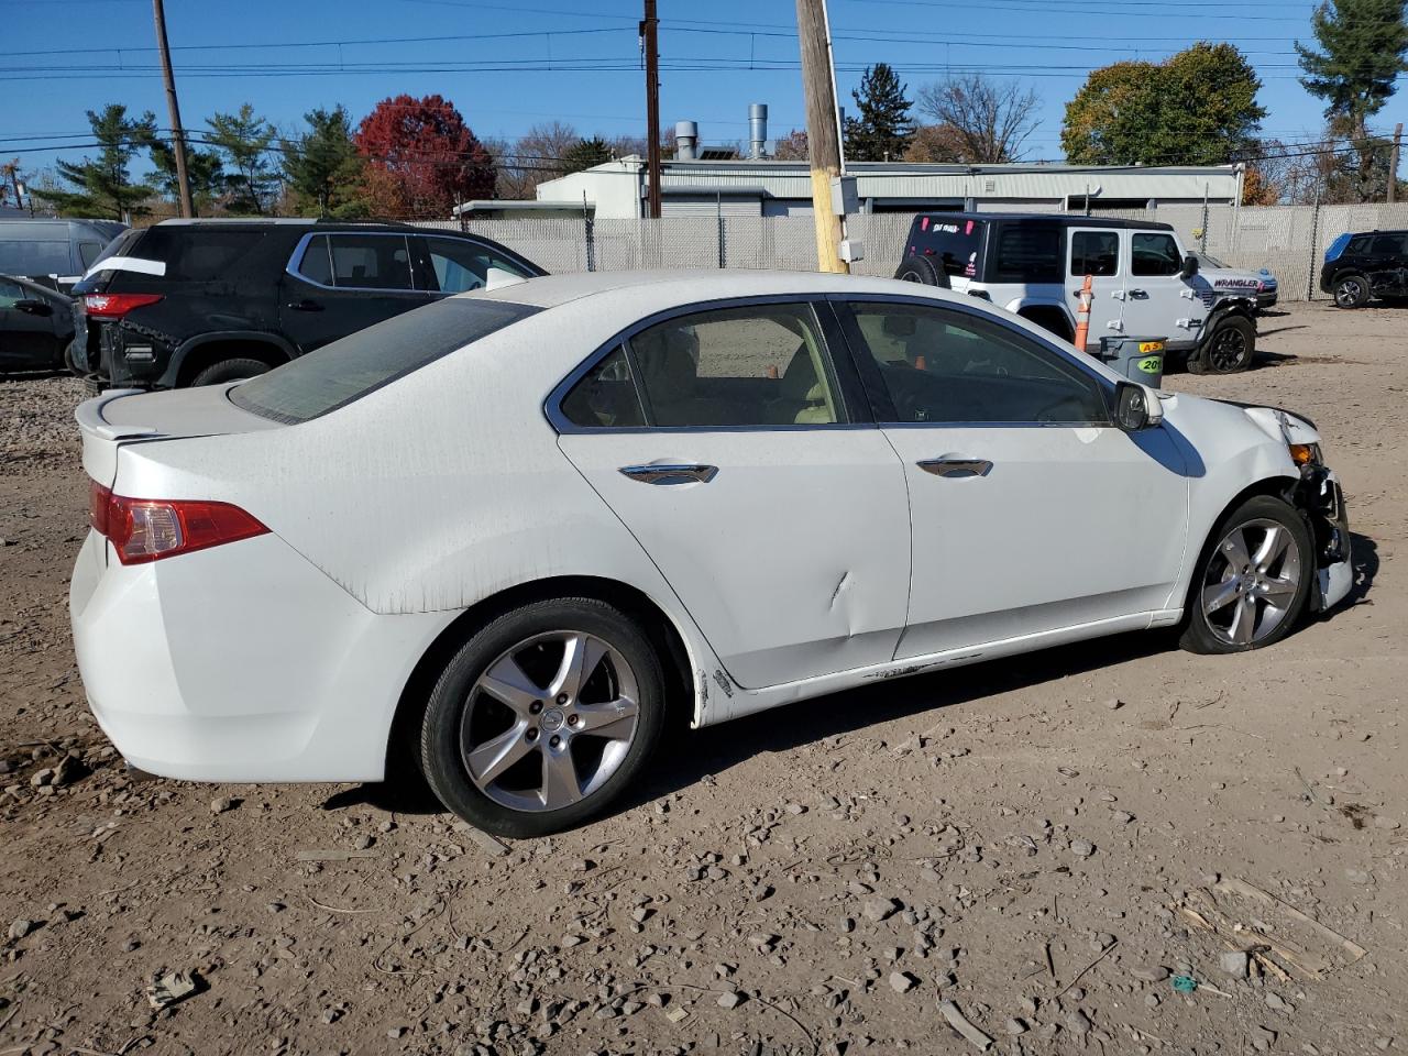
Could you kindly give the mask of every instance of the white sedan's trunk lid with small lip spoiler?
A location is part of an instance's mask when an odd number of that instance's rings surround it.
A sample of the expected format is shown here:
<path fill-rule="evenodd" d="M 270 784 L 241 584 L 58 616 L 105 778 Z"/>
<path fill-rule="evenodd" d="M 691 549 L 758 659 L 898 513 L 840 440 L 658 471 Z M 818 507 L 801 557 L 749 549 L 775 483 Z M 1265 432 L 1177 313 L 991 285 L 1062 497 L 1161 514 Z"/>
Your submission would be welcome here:
<path fill-rule="evenodd" d="M 234 384 L 163 393 L 110 389 L 83 401 L 73 414 L 83 434 L 83 470 L 111 487 L 117 479 L 117 452 L 124 445 L 286 428 L 235 407 L 230 401 Z"/>

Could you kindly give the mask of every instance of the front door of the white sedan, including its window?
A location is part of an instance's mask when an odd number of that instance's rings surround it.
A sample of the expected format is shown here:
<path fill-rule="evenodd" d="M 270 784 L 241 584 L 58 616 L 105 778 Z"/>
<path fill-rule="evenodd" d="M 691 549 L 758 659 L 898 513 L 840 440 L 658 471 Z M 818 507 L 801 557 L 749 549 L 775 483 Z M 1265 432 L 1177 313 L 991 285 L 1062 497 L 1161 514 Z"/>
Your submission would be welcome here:
<path fill-rule="evenodd" d="M 897 659 L 1146 625 L 1169 607 L 1188 507 L 1169 431 L 1115 428 L 1104 377 L 993 314 L 859 298 L 838 310 L 910 484 Z"/>

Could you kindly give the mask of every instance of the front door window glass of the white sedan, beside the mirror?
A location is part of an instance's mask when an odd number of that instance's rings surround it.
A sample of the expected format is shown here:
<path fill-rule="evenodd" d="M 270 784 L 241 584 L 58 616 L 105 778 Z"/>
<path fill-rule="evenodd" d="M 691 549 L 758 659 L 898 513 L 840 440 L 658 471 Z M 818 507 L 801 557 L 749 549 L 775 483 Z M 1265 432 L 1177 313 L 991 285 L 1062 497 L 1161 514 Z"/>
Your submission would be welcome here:
<path fill-rule="evenodd" d="M 1095 377 L 1001 322 L 908 304 L 852 314 L 891 422 L 1108 424 Z"/>

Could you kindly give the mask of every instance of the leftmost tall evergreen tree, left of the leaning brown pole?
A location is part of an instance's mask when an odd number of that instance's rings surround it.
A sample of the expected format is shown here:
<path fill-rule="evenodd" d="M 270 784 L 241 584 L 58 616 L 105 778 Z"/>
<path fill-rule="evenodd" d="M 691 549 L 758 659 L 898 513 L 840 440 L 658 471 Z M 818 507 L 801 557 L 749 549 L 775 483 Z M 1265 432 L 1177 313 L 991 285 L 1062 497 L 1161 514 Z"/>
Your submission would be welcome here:
<path fill-rule="evenodd" d="M 134 183 L 128 172 L 138 151 L 156 141 L 156 117 L 148 110 L 138 118 L 127 115 L 127 107 L 113 103 L 96 114 L 87 111 L 93 138 L 100 153 L 82 163 L 56 161 L 59 176 L 76 190 L 45 190 L 42 197 L 65 217 L 94 220 L 128 220 L 149 213 L 142 203 L 156 193 L 149 183 Z"/>

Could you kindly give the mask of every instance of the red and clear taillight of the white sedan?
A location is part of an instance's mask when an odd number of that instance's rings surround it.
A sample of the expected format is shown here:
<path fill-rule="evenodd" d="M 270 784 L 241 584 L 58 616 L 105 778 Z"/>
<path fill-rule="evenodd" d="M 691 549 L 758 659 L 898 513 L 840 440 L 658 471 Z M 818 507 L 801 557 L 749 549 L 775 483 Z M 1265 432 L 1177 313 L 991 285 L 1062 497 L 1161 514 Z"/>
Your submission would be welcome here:
<path fill-rule="evenodd" d="M 122 565 L 222 546 L 269 529 L 230 503 L 186 498 L 127 498 L 93 482 L 89 524 L 106 535 Z"/>

